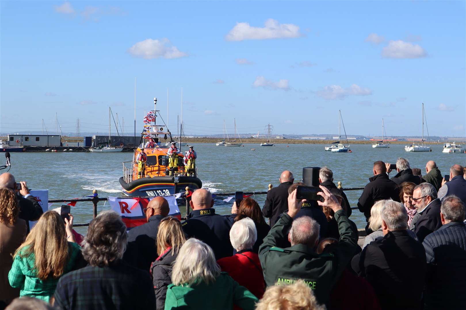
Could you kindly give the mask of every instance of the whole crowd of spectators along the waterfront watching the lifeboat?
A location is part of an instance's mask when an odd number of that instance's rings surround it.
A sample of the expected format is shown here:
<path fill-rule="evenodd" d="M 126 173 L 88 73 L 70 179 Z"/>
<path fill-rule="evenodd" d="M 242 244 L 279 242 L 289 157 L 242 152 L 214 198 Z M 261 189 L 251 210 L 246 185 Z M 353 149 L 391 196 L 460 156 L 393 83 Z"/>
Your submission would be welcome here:
<path fill-rule="evenodd" d="M 283 171 L 262 209 L 244 198 L 219 215 L 199 189 L 180 222 L 157 197 L 146 224 L 103 211 L 80 244 L 72 215 L 42 214 L 3 173 L 0 309 L 464 309 L 466 168 L 449 181 L 433 161 L 424 176 L 405 158 L 390 168 L 374 163 L 357 203 L 362 247 L 328 167 L 317 200 L 297 199 L 304 184 Z"/>

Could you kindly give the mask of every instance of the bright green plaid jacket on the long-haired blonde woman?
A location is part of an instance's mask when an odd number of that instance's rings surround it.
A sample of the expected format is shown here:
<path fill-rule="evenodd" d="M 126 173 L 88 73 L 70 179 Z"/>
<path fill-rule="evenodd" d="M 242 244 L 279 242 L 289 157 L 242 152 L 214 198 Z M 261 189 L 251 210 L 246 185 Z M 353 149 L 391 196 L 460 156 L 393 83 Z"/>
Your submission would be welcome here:
<path fill-rule="evenodd" d="M 81 247 L 73 242 L 68 242 L 69 258 L 63 274 L 74 270 L 76 262 L 82 259 Z M 21 251 L 21 253 L 23 253 Z M 20 254 L 21 254 L 20 253 Z M 35 297 L 47 301 L 54 295 L 55 288 L 60 278 L 48 278 L 45 281 L 37 278 L 37 270 L 34 267 L 34 253 L 26 257 L 16 255 L 13 265 L 8 273 L 8 281 L 14 288 L 20 288 L 20 296 Z"/>

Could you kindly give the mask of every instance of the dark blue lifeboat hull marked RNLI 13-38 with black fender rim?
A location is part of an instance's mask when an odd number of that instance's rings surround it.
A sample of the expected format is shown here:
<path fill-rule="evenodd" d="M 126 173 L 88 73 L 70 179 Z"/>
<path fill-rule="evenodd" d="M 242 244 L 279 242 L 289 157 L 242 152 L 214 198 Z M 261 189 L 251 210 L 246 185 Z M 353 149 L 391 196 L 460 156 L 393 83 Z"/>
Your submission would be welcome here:
<path fill-rule="evenodd" d="M 195 177 L 153 177 L 140 178 L 130 183 L 126 183 L 123 177 L 120 178 L 122 192 L 129 197 L 164 197 L 186 191 L 186 186 L 190 191 L 202 187 L 202 182 Z"/>

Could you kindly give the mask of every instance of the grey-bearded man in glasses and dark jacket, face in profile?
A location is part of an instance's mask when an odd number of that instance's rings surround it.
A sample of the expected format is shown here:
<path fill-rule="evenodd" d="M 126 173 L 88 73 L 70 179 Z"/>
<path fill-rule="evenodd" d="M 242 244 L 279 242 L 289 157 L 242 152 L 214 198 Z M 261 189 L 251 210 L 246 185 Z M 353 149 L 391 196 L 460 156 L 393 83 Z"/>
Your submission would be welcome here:
<path fill-rule="evenodd" d="M 440 219 L 440 199 L 437 198 L 435 187 L 429 183 L 421 183 L 414 188 L 412 204 L 418 212 L 411 221 L 412 231 L 422 242 L 428 234 L 442 226 Z M 413 224 L 414 222 L 414 224 Z"/>

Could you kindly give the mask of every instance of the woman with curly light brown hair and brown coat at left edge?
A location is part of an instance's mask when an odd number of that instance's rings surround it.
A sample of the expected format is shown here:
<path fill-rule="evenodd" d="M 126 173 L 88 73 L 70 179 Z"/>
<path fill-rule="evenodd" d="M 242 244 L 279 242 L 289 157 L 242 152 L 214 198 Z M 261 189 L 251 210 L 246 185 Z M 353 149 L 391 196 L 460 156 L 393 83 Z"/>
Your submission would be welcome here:
<path fill-rule="evenodd" d="M 20 296 L 20 290 L 11 287 L 8 272 L 13 264 L 13 253 L 26 237 L 26 221 L 18 218 L 18 200 L 12 190 L 0 188 L 0 303 L 10 303 Z"/>

